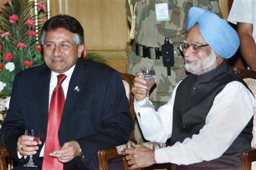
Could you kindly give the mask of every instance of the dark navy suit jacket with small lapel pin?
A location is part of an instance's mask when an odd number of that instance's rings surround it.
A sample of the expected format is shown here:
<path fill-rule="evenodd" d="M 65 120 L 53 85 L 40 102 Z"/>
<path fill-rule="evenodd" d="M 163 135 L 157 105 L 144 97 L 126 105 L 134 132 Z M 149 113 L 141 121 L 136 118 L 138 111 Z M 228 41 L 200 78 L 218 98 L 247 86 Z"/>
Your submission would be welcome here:
<path fill-rule="evenodd" d="M 25 129 L 39 129 L 46 140 L 51 70 L 43 64 L 17 74 L 11 102 L 1 128 L 1 141 L 17 158 L 17 139 Z M 79 92 L 74 88 L 79 87 Z M 104 64 L 77 60 L 69 82 L 59 128 L 61 146 L 76 140 L 84 153 L 65 166 L 97 169 L 97 150 L 124 144 L 132 119 L 119 73 Z M 34 155 L 38 158 L 42 149 Z"/>

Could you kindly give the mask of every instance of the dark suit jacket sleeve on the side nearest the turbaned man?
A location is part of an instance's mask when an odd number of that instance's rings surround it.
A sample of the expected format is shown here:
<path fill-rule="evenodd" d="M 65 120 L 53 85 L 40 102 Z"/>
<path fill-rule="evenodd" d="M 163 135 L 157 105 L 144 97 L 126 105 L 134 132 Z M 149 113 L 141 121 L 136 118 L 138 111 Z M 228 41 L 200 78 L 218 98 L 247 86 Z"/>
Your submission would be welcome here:
<path fill-rule="evenodd" d="M 105 93 L 104 100 L 99 103 L 103 105 L 101 116 L 104 125 L 96 134 L 76 140 L 82 148 L 84 163 L 88 169 L 98 166 L 98 149 L 127 143 L 133 127 L 124 85 L 119 73 L 112 73 L 106 85 L 106 92 L 102 92 Z"/>

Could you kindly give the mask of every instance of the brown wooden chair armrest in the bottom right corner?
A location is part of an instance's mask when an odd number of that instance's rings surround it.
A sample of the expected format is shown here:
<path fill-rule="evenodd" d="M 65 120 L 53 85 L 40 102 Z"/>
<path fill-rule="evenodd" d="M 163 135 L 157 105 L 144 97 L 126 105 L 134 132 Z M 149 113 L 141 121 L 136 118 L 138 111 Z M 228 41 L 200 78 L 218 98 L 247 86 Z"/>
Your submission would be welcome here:
<path fill-rule="evenodd" d="M 242 162 L 242 170 L 251 170 L 252 162 L 256 161 L 256 149 L 242 150 L 240 153 L 240 159 Z"/>

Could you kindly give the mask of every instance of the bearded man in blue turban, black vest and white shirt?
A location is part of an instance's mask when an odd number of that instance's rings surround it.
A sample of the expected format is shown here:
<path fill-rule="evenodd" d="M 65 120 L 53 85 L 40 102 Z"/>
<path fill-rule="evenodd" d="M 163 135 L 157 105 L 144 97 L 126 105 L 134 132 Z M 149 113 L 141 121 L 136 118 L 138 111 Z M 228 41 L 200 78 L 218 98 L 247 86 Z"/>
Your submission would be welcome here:
<path fill-rule="evenodd" d="M 225 59 L 239 37 L 224 19 L 199 7 L 188 13 L 187 37 L 180 43 L 190 74 L 159 110 L 145 103 L 145 81 L 137 73 L 134 108 L 145 139 L 171 146 L 148 149 L 134 144 L 124 154 L 131 169 L 172 163 L 172 169 L 242 169 L 240 151 L 250 148 L 254 95 Z"/>

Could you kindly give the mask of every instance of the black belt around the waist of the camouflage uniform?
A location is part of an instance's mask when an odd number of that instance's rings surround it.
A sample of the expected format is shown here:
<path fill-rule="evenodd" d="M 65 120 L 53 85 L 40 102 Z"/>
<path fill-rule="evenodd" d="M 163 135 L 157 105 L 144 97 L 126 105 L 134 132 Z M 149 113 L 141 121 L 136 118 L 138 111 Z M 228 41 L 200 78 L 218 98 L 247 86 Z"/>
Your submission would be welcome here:
<path fill-rule="evenodd" d="M 145 45 L 135 44 L 135 54 L 149 59 L 159 59 L 161 51 L 159 47 L 146 47 Z"/>

